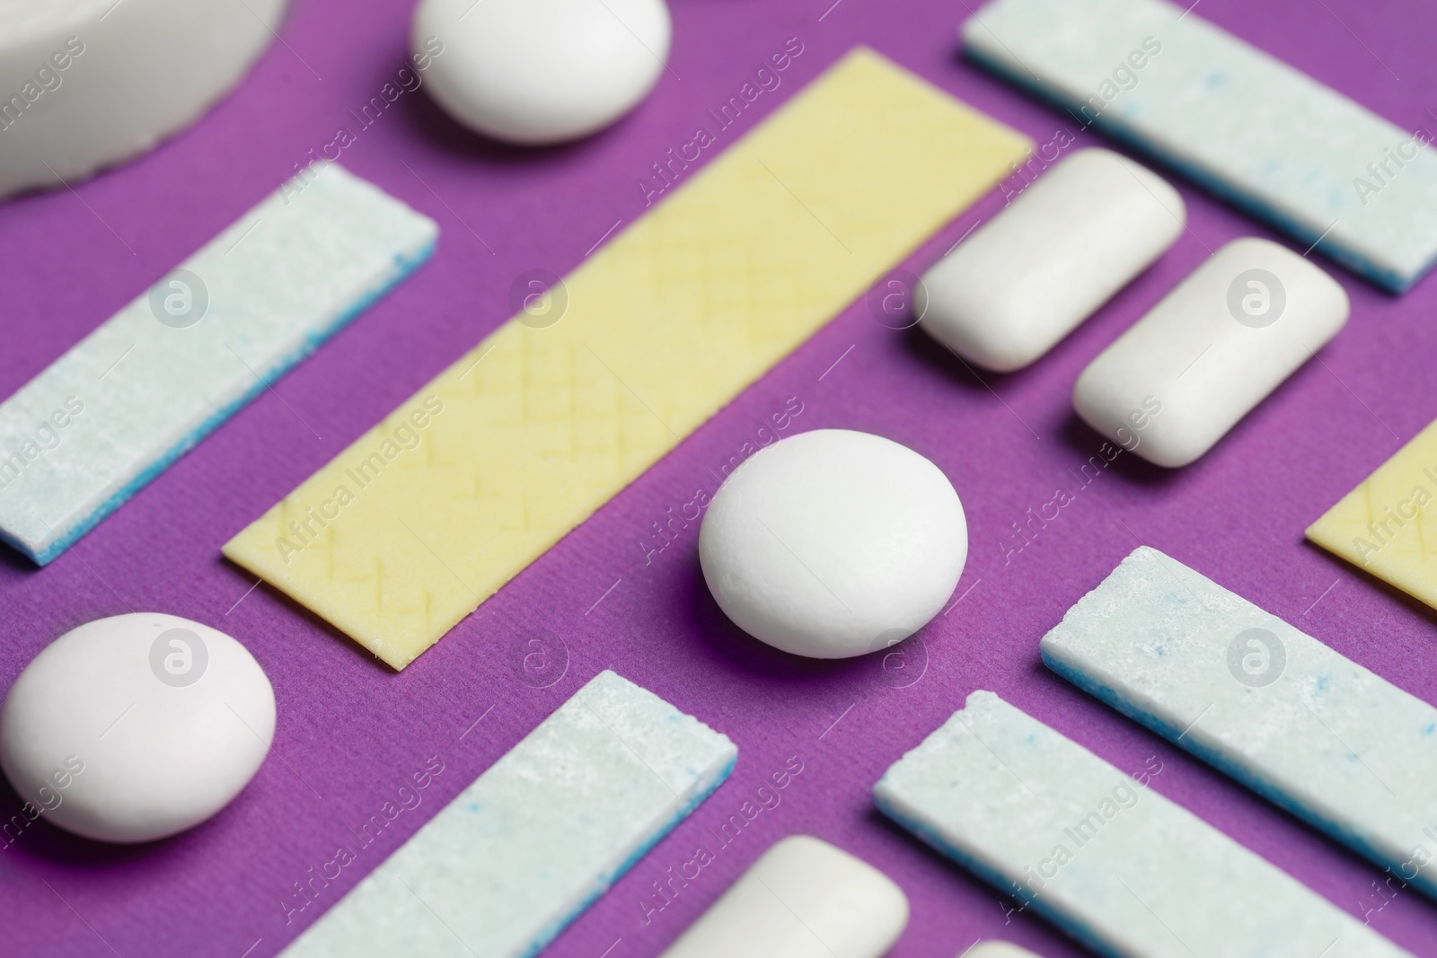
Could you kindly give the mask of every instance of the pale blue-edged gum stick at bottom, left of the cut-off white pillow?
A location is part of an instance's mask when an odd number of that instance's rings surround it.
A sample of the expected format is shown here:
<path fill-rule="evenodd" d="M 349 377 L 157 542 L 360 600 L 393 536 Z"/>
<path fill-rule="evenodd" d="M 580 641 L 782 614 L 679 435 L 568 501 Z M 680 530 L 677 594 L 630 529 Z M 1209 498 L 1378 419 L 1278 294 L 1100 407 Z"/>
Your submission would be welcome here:
<path fill-rule="evenodd" d="M 726 735 L 601 672 L 286 958 L 536 954 L 733 770 Z"/>

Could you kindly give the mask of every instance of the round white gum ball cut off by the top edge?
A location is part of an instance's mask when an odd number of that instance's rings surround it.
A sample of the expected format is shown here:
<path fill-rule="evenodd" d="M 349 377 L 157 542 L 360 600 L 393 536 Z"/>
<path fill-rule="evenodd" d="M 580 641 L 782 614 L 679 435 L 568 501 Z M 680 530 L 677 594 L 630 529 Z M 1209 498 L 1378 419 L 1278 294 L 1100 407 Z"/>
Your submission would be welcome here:
<path fill-rule="evenodd" d="M 664 72 L 671 37 L 664 0 L 420 0 L 411 43 L 431 56 L 425 85 L 454 119 L 540 147 L 634 109 Z"/>

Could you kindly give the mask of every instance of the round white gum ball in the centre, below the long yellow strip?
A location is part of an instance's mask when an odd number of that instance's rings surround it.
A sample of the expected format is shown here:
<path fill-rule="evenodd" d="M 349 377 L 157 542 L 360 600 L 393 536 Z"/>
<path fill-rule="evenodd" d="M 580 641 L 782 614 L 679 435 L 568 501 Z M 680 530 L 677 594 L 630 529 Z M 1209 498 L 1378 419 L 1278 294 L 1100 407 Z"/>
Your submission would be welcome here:
<path fill-rule="evenodd" d="M 963 503 L 937 465 L 867 432 L 818 429 L 764 450 L 718 488 L 698 533 L 724 613 L 819 659 L 908 638 L 943 609 L 969 556 Z"/>

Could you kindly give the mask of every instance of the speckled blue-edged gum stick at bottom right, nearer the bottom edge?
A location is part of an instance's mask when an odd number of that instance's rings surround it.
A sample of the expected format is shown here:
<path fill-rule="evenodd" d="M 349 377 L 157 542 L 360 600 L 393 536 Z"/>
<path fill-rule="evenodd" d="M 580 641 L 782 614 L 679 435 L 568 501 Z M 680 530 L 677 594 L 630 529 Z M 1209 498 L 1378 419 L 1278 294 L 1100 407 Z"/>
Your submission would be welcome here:
<path fill-rule="evenodd" d="M 979 691 L 888 768 L 874 799 L 1098 954 L 1407 955 L 1150 780 Z"/>

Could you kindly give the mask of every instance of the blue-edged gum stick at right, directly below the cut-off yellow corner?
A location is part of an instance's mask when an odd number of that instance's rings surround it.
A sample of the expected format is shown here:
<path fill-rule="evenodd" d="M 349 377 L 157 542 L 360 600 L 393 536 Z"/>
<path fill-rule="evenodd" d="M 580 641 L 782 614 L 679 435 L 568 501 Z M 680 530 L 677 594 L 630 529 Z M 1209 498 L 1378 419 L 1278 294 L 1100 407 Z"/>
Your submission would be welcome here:
<path fill-rule="evenodd" d="M 1437 898 L 1437 710 L 1155 549 L 1043 636 L 1050 669 Z"/>

